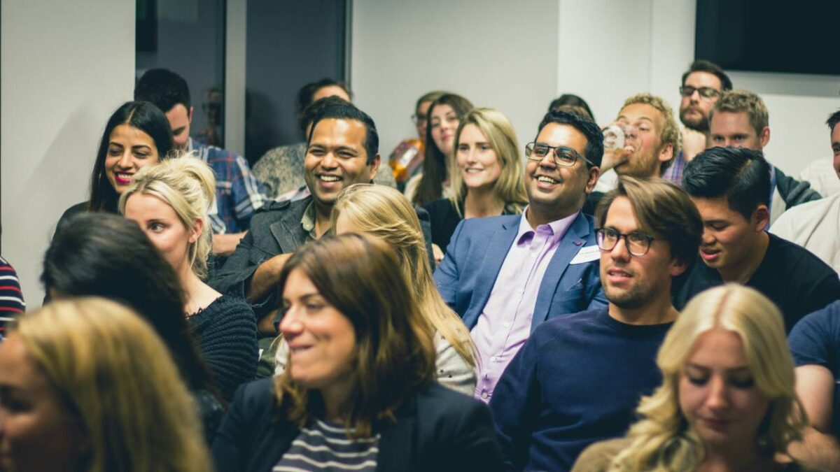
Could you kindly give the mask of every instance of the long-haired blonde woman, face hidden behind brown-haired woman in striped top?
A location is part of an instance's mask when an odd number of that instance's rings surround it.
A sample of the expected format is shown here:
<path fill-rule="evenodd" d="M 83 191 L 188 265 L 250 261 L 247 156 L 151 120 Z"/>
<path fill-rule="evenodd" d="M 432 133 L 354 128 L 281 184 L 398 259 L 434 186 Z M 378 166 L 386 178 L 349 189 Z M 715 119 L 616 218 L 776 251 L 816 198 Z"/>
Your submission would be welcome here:
<path fill-rule="evenodd" d="M 400 257 L 402 275 L 412 287 L 420 312 L 434 339 L 436 375 L 449 388 L 472 396 L 475 355 L 470 332 L 438 294 L 429 268 L 426 244 L 417 212 L 399 191 L 386 186 L 356 184 L 341 192 L 333 207 L 333 228 L 341 233 L 366 233 L 384 239 Z M 388 283 L 383 281 L 383 283 Z M 276 358 L 282 370 L 287 350 Z"/>

